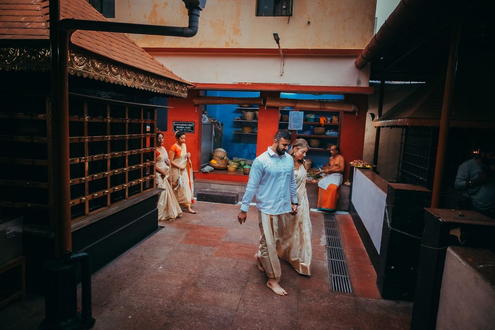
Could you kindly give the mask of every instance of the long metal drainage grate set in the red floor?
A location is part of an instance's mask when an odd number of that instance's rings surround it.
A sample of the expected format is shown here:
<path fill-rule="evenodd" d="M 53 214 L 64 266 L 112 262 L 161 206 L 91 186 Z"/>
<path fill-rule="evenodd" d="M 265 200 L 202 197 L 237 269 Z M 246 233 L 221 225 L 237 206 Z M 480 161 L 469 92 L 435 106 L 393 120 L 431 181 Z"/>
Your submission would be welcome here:
<path fill-rule="evenodd" d="M 325 214 L 323 219 L 327 238 L 327 259 L 331 290 L 350 293 L 352 292 L 352 286 L 337 219 L 335 214 Z"/>

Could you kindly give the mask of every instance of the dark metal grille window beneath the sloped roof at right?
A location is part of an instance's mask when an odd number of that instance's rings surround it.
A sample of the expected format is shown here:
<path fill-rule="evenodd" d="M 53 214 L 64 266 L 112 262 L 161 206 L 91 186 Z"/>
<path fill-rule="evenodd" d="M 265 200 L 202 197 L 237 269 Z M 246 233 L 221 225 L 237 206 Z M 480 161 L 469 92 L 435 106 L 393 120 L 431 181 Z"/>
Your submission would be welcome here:
<path fill-rule="evenodd" d="M 438 128 L 403 128 L 397 173 L 398 182 L 432 189 L 437 145 Z"/>

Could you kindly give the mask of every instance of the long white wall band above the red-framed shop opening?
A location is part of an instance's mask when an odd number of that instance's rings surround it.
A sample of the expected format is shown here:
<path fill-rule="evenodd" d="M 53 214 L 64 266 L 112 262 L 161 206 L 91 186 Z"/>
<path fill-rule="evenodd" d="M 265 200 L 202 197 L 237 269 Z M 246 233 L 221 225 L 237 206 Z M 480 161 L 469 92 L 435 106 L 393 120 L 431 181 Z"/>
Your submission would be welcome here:
<path fill-rule="evenodd" d="M 151 55 L 172 72 L 195 83 L 369 86 L 369 66 L 357 70 L 356 56 L 287 56 L 281 76 L 279 55 Z"/>

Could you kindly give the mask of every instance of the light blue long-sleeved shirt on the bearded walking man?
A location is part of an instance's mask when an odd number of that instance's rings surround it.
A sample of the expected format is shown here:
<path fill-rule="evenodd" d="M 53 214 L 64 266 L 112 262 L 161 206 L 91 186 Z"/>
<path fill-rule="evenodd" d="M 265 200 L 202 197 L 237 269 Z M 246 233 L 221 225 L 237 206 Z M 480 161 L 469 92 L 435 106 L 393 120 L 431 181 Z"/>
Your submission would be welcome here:
<path fill-rule="evenodd" d="M 285 153 L 279 156 L 270 147 L 252 162 L 241 210 L 247 212 L 256 196 L 256 206 L 263 213 L 276 215 L 292 211 L 297 203 L 294 160 Z"/>

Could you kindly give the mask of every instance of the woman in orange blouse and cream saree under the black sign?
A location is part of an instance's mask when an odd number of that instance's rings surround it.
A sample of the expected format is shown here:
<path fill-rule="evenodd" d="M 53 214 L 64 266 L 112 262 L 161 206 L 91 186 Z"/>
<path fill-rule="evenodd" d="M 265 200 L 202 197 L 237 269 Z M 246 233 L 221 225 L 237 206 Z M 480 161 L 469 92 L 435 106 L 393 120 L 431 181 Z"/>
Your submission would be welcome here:
<path fill-rule="evenodd" d="M 191 164 L 191 153 L 186 149 L 186 133 L 177 131 L 177 140 L 170 147 L 168 156 L 172 165 L 172 189 L 181 207 L 187 207 L 189 213 L 196 213 L 191 208 L 194 203 L 193 166 Z"/>

